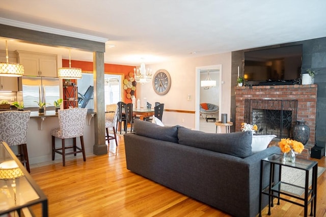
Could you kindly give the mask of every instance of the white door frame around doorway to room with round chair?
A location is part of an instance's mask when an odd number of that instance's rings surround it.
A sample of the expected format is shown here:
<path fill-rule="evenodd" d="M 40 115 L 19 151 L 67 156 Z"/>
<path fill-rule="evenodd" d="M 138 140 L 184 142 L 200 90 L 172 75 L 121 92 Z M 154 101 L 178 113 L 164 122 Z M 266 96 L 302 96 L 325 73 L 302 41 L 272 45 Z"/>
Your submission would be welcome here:
<path fill-rule="evenodd" d="M 200 112 L 199 112 L 199 102 L 200 102 L 200 71 L 203 69 L 219 69 L 219 111 L 221 111 L 222 106 L 222 64 L 212 65 L 212 66 L 202 66 L 196 67 L 196 89 L 195 89 L 195 130 L 199 130 L 200 127 Z M 221 119 L 221 112 L 219 112 L 219 120 Z"/>

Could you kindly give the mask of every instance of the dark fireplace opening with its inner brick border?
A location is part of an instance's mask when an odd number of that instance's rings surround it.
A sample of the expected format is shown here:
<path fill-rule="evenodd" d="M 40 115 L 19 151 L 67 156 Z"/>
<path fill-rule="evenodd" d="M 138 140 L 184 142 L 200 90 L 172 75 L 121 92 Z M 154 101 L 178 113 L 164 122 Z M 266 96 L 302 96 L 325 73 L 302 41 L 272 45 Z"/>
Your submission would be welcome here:
<path fill-rule="evenodd" d="M 297 100 L 245 100 L 244 121 L 257 125 L 258 135 L 291 138 L 296 113 Z"/>

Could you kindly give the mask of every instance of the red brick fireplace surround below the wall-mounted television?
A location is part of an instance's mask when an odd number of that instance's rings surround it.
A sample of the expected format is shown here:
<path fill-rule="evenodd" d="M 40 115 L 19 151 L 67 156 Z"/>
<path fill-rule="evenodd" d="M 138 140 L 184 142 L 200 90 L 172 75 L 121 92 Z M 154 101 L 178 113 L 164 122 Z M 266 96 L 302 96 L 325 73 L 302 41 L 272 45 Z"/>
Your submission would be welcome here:
<path fill-rule="evenodd" d="M 275 102 L 282 102 L 282 104 L 283 102 L 296 102 L 295 110 L 292 109 L 293 111 L 291 111 L 291 126 L 287 127 L 287 129 L 290 130 L 293 127 L 295 120 L 305 120 L 306 125 L 308 125 L 310 128 L 310 137 L 307 144 L 312 146 L 315 144 L 317 84 L 235 87 L 236 132 L 240 131 L 241 123 L 246 122 L 246 120 L 249 119 L 248 116 L 252 115 L 248 114 L 248 112 L 252 112 L 252 110 L 248 109 L 246 114 L 246 108 L 248 108 L 249 100 L 251 102 L 259 100 L 258 102 L 261 104 L 261 107 L 270 104 L 275 105 Z M 289 109 L 285 108 L 284 110 L 285 113 L 287 113 Z M 260 129 L 260 127 L 262 126 L 258 126 L 258 129 Z M 289 133 L 285 134 L 285 136 L 281 136 L 281 138 L 286 138 L 287 135 L 291 136 Z"/>

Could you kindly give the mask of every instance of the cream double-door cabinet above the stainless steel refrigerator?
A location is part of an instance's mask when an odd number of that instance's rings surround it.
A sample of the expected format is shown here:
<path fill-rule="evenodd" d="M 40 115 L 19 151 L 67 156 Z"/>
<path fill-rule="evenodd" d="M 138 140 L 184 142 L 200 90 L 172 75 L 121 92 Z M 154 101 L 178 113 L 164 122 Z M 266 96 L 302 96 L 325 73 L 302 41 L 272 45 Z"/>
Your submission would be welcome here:
<path fill-rule="evenodd" d="M 55 54 L 17 50 L 17 60 L 24 67 L 24 76 L 58 77 Z"/>

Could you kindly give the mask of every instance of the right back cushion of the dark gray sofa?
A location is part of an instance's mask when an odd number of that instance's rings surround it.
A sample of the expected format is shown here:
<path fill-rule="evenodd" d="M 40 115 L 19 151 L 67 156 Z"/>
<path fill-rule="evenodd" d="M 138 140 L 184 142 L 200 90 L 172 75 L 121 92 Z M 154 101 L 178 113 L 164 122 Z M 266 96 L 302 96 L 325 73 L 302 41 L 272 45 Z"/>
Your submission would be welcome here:
<path fill-rule="evenodd" d="M 252 154 L 252 133 L 249 131 L 215 134 L 179 127 L 178 138 L 179 144 L 182 145 L 226 153 L 240 158 L 246 158 Z"/>

